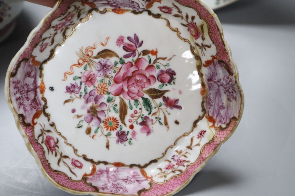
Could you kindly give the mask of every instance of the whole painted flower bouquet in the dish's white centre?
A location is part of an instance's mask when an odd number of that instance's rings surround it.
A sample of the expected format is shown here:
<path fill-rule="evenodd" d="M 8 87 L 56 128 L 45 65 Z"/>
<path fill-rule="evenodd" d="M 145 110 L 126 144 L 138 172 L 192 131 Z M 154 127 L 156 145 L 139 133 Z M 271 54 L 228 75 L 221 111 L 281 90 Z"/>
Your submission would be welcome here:
<path fill-rule="evenodd" d="M 81 75 L 74 76 L 74 82 L 66 86 L 65 91 L 72 96 L 65 100 L 64 104 L 73 103 L 76 99 L 84 100 L 82 106 L 84 114 L 75 115 L 76 128 L 81 129 L 85 121 L 88 123 L 85 133 L 92 139 L 104 136 L 108 149 L 109 140 L 114 135 L 113 131 L 116 131 L 117 144 L 132 145 L 137 135 L 137 132 L 133 130 L 134 123 L 142 126 L 140 133 L 149 136 L 153 133 L 155 123 L 169 130 L 168 109 L 182 109 L 179 99 L 164 96 L 169 92 L 163 89 L 164 86 L 174 85 L 176 82 L 176 72 L 172 68 L 167 68 L 170 66 L 169 63 L 162 62 L 167 58 L 158 57 L 157 49 L 145 49 L 140 52 L 139 48 L 143 40 L 140 41 L 136 33 L 133 38 L 127 36 L 127 40 L 124 36 L 118 36 L 116 41 L 117 46 L 122 46 L 123 50 L 128 52 L 123 58 L 119 58 L 116 52 L 109 49 L 98 52 L 96 56 L 90 57 L 90 63 L 80 66 L 83 68 Z M 95 48 L 92 47 L 92 49 Z M 84 53 L 79 55 L 85 56 Z M 153 61 L 152 57 L 154 57 Z M 133 59 L 127 61 L 126 58 Z M 66 72 L 65 76 L 67 74 L 73 74 L 73 72 Z M 153 88 L 152 86 L 157 82 L 158 88 Z M 92 87 L 95 89 L 91 90 Z M 119 104 L 116 102 L 118 99 Z M 152 113 L 155 109 L 156 111 Z M 132 114 L 127 119 L 128 110 Z M 146 113 L 143 113 L 143 110 Z M 116 114 L 119 114 L 119 119 L 114 117 Z M 163 115 L 164 121 L 160 115 Z M 82 117 L 84 120 L 81 120 Z M 97 135 L 99 131 L 100 136 Z"/>

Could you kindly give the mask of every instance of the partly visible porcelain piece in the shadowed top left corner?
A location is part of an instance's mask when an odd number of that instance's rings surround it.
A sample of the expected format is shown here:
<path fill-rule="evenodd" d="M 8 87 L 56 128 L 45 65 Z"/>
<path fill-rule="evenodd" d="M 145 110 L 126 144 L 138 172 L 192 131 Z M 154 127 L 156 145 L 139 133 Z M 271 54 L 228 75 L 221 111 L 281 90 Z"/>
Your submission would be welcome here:
<path fill-rule="evenodd" d="M 22 0 L 0 0 L 0 42 L 12 33 L 15 19 L 22 10 L 22 3 Z"/>

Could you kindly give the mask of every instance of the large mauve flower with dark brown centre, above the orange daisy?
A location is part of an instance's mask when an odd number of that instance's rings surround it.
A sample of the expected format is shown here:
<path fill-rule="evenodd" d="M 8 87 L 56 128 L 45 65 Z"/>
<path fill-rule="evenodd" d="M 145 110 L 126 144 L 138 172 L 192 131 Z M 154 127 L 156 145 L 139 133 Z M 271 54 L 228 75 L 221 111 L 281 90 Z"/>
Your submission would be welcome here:
<path fill-rule="evenodd" d="M 106 103 L 102 102 L 104 97 L 97 95 L 96 90 L 92 90 L 89 94 L 83 96 L 86 104 L 92 103 L 92 105 L 87 108 L 87 113 L 84 115 L 84 120 L 87 123 L 91 123 L 92 126 L 99 126 L 101 119 L 106 117 L 104 110 L 106 109 Z"/>

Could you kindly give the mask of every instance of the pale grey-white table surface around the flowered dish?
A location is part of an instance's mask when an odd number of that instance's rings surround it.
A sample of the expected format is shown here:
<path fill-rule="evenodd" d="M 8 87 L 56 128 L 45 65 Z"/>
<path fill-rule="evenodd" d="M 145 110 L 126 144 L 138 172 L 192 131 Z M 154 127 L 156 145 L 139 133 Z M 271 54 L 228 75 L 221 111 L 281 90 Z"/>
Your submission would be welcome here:
<path fill-rule="evenodd" d="M 240 125 L 178 196 L 295 195 L 295 1 L 240 0 L 217 10 L 245 93 Z M 4 97 L 10 60 L 49 8 L 30 3 L 0 45 L 0 195 L 71 195 L 27 151 Z"/>

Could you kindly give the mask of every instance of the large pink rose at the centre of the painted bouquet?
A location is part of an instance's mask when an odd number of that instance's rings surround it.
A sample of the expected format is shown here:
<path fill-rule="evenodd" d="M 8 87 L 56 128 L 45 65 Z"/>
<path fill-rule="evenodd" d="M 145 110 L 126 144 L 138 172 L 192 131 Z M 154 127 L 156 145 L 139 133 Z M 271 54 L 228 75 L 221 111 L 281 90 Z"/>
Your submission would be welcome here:
<path fill-rule="evenodd" d="M 139 58 L 134 64 L 125 63 L 114 77 L 111 93 L 114 96 L 123 95 L 125 99 L 137 100 L 143 96 L 142 90 L 156 81 L 155 66 L 149 65 L 144 58 Z"/>

